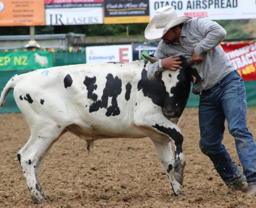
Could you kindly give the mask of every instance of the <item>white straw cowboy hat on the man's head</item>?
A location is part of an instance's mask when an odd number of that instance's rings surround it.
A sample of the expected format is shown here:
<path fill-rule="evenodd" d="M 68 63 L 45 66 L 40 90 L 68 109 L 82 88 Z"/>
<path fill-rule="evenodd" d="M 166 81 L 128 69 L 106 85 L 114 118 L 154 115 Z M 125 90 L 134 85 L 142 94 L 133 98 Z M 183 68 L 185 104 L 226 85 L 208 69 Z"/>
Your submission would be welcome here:
<path fill-rule="evenodd" d="M 192 17 L 177 15 L 172 6 L 161 7 L 155 11 L 154 17 L 146 27 L 145 38 L 149 40 L 161 38 L 170 28 L 190 19 Z"/>

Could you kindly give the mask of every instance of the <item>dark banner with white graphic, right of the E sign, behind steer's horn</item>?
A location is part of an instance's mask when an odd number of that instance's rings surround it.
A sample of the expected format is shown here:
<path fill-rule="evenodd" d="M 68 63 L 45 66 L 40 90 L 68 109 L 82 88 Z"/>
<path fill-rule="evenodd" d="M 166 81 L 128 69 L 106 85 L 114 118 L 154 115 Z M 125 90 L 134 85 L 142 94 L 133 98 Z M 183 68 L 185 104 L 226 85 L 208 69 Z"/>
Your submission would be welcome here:
<path fill-rule="evenodd" d="M 133 60 L 145 60 L 142 54 L 149 56 L 150 54 L 154 54 L 158 43 L 155 44 L 132 44 L 132 57 Z"/>

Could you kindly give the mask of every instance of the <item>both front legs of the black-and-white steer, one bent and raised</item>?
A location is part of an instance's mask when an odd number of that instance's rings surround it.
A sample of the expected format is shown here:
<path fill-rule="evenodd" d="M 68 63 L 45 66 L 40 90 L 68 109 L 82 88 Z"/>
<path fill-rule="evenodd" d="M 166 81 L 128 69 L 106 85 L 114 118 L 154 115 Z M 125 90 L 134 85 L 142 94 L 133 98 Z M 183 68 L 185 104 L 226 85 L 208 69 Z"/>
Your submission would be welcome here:
<path fill-rule="evenodd" d="M 148 135 L 154 142 L 158 157 L 169 177 L 174 193 L 181 195 L 185 159 L 182 152 L 183 136 L 180 129 L 164 117 L 162 111 L 152 114 L 141 111 L 134 121 L 137 126 L 144 127 L 145 136 Z M 175 160 L 171 151 L 171 140 L 174 141 Z"/>

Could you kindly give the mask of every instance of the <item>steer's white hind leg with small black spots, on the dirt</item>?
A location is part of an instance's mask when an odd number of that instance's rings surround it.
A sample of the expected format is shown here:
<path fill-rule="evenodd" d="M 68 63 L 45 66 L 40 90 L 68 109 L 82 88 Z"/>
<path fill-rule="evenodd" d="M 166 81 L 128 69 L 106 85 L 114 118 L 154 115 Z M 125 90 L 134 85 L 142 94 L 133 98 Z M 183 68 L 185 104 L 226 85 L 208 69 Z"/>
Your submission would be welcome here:
<path fill-rule="evenodd" d="M 54 125 L 55 126 L 55 125 Z M 51 145 L 59 138 L 61 131 L 54 127 L 31 128 L 31 136 L 26 145 L 18 152 L 22 171 L 26 178 L 28 189 L 33 201 L 37 204 L 45 203 L 48 198 L 39 182 L 39 164 L 43 160 Z"/>

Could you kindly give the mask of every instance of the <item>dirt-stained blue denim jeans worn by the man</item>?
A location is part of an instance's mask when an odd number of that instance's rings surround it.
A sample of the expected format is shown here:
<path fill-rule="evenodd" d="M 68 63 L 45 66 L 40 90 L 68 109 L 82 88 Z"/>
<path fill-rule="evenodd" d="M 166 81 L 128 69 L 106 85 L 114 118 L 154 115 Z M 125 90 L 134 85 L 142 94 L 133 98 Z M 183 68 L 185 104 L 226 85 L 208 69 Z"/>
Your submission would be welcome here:
<path fill-rule="evenodd" d="M 242 173 L 221 143 L 227 119 L 236 151 L 248 183 L 256 184 L 256 145 L 246 125 L 246 93 L 237 71 L 230 72 L 214 87 L 202 91 L 199 103 L 200 149 L 212 160 L 227 184 L 241 179 Z"/>

